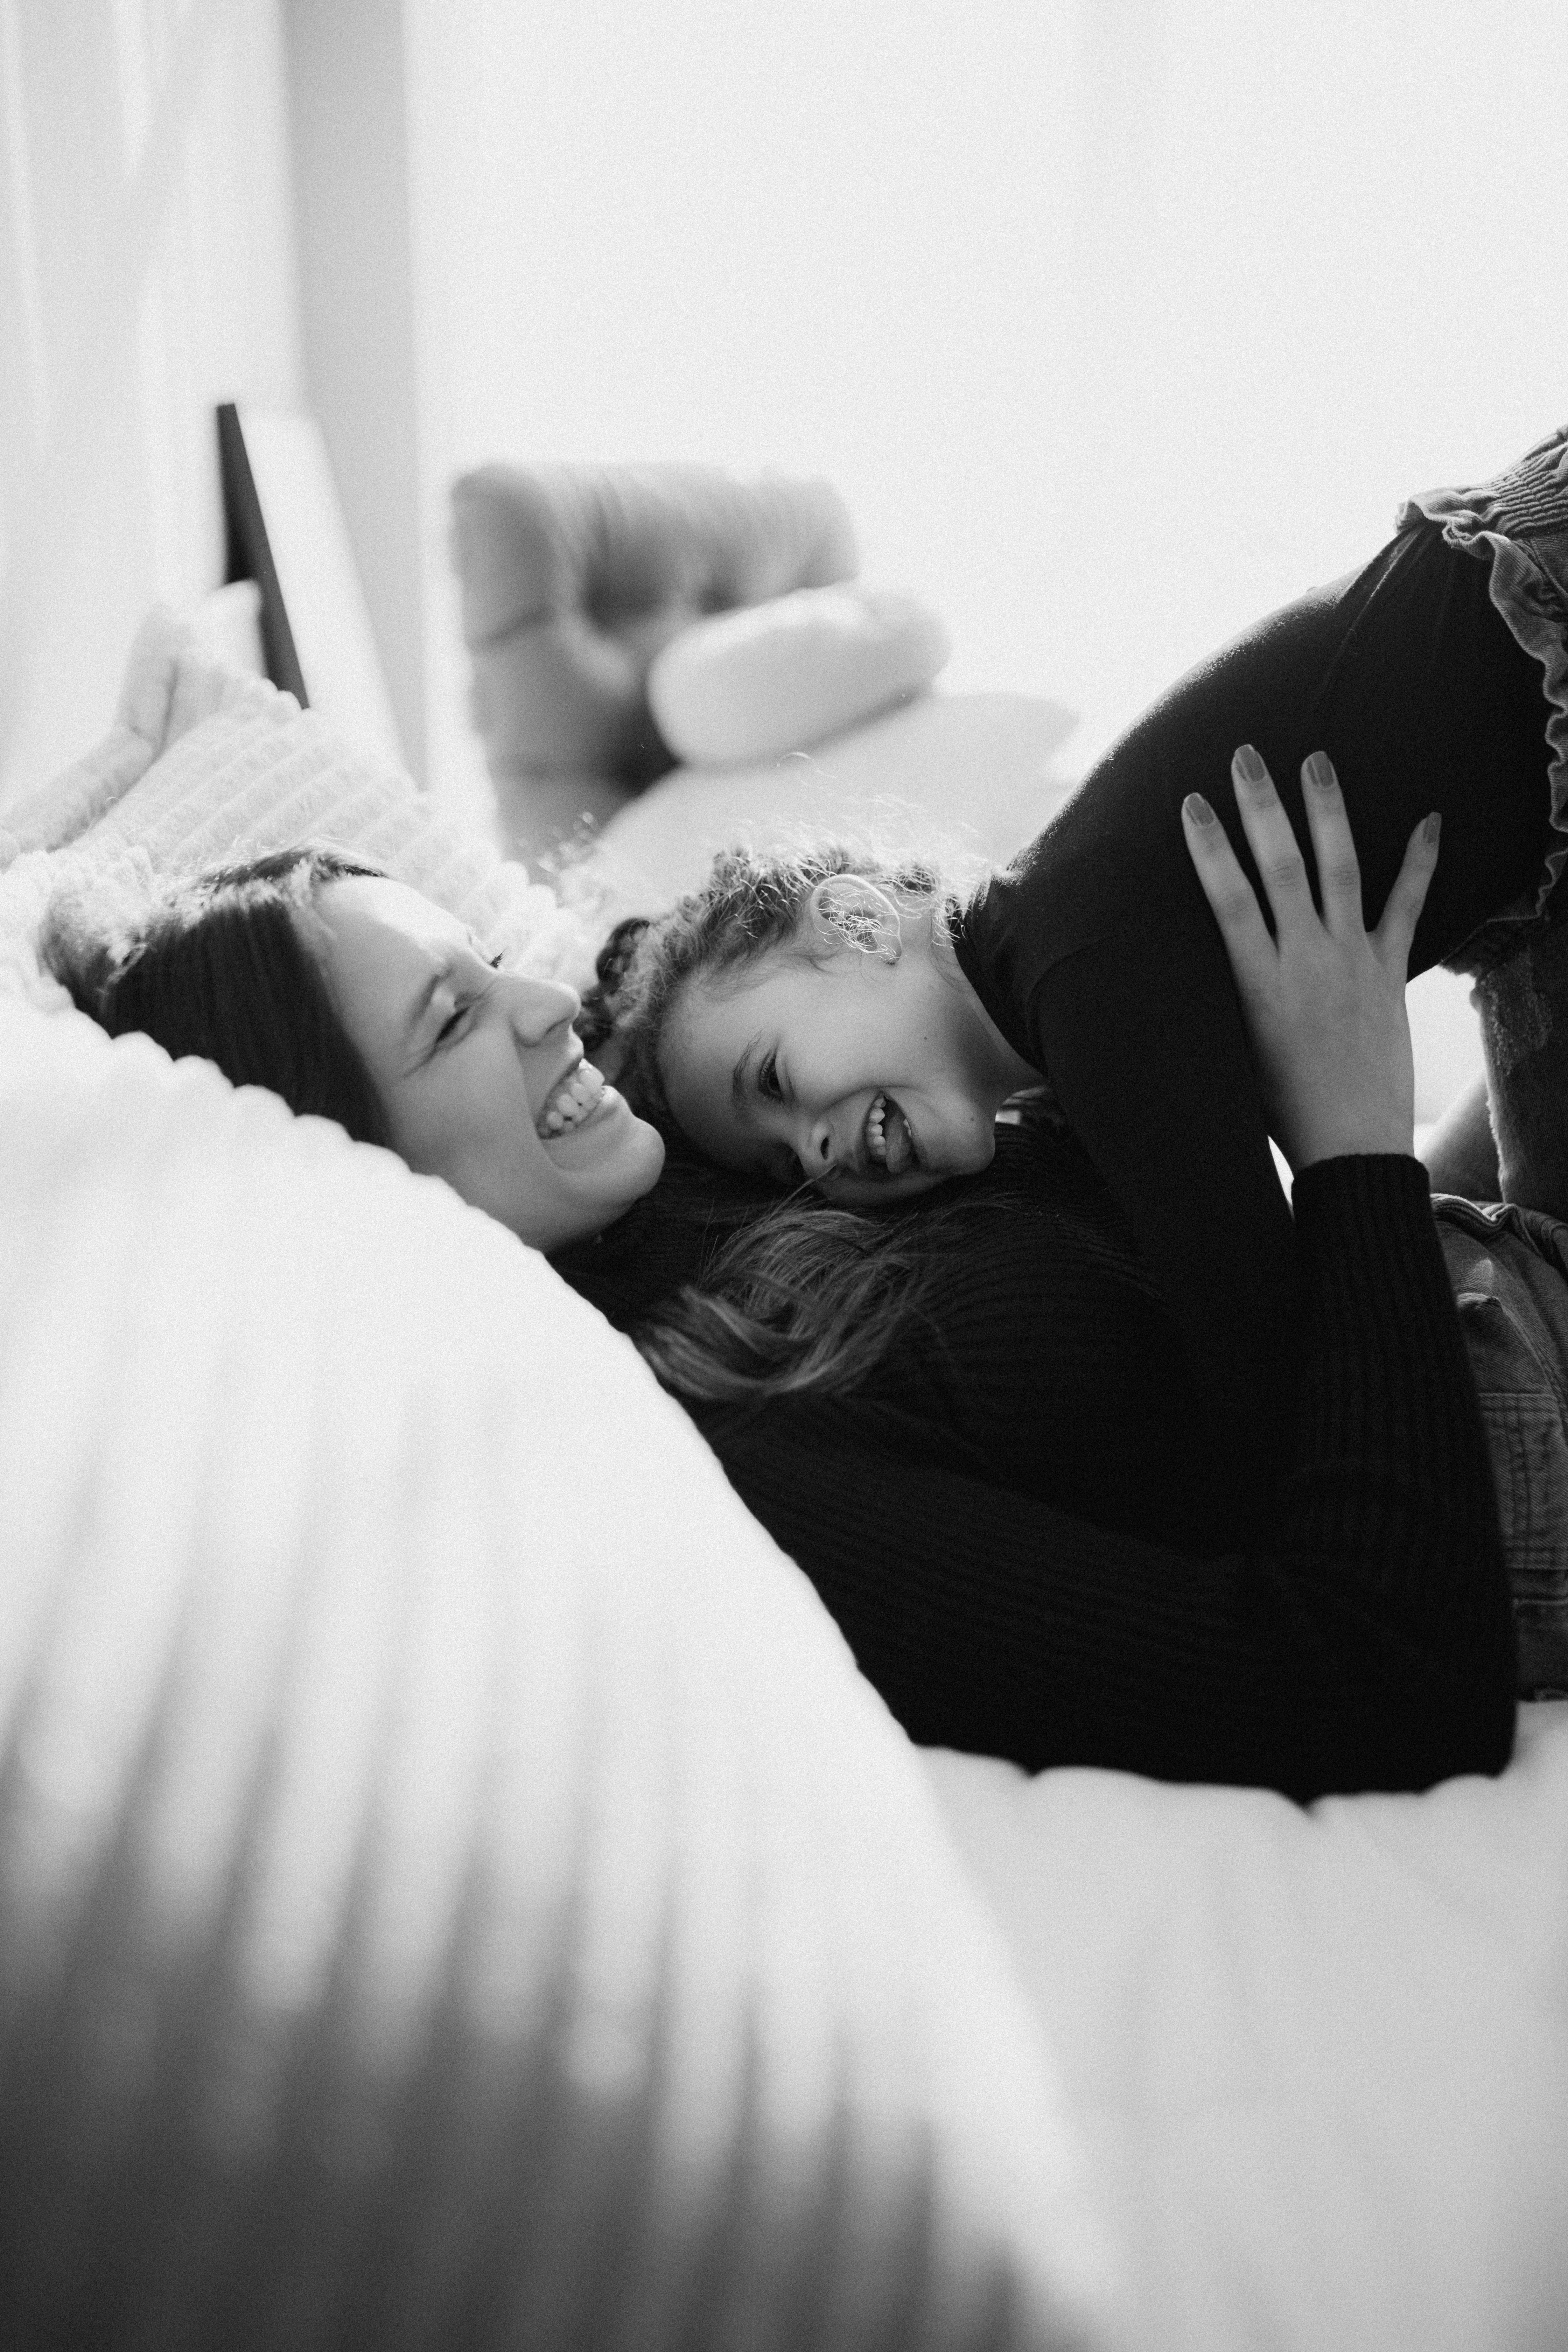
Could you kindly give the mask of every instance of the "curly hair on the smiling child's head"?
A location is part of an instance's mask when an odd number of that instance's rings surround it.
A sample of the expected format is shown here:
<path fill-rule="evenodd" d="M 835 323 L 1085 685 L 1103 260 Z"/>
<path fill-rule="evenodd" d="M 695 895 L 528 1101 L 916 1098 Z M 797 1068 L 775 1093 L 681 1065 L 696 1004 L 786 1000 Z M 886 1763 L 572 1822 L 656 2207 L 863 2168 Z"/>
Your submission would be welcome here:
<path fill-rule="evenodd" d="M 839 880 L 846 889 L 825 887 Z M 898 962 L 900 922 L 919 913 L 952 920 L 943 877 L 924 858 L 893 861 L 839 842 L 773 854 L 722 849 L 703 887 L 668 915 L 630 915 L 614 927 L 583 997 L 583 1044 L 595 1054 L 614 1037 L 625 1056 L 616 1087 L 644 1120 L 677 1136 L 658 1047 L 686 981 L 743 971 L 780 946 L 799 946 L 811 962 L 842 948 Z"/>

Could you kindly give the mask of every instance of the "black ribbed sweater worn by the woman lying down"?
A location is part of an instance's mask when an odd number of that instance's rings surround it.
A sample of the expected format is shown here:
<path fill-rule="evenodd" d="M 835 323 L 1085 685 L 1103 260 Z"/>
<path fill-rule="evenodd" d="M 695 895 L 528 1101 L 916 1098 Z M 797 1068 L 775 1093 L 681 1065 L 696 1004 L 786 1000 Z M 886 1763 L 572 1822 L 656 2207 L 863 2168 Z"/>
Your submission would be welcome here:
<path fill-rule="evenodd" d="M 1305 1376 L 1248 1550 L 1218 1545 L 1180 1334 L 1077 1143 L 1001 1129 L 966 1197 L 860 1395 L 689 1406 L 910 1736 L 1300 1799 L 1500 1771 L 1512 1611 L 1418 1162 L 1295 1185 Z M 656 1202 L 562 1263 L 623 1327 L 703 1256 Z"/>

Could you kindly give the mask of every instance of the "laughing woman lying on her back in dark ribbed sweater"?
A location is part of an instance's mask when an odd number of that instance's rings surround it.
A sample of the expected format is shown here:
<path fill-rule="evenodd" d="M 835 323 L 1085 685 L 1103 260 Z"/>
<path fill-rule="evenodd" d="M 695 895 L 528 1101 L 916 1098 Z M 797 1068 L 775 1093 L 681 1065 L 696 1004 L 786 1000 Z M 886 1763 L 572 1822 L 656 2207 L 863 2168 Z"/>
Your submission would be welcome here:
<path fill-rule="evenodd" d="M 1276 816 L 1260 821 L 1279 830 Z M 1340 863 L 1352 856 L 1345 837 Z M 912 1287 L 882 1228 L 849 1218 L 872 1284 L 860 1298 L 893 1289 L 896 1345 L 858 1374 L 851 1364 L 846 1376 L 842 1355 L 813 1369 L 785 1315 L 783 1378 L 736 1376 L 712 1324 L 733 1317 L 750 1327 L 745 1345 L 759 1329 L 766 1343 L 755 1256 L 741 1303 L 722 1263 L 708 1263 L 705 1296 L 644 1322 L 644 1352 L 813 1576 L 914 1738 L 1025 1766 L 1112 1764 L 1302 1799 L 1507 1762 L 1514 1649 L 1486 1442 L 1399 1077 L 1399 981 L 1425 887 L 1420 873 L 1406 880 L 1389 910 L 1394 985 L 1385 976 L 1375 1044 L 1300 1143 L 1309 1345 L 1293 1475 L 1255 1545 L 1213 1541 L 1178 1334 L 1114 1202 L 1051 1122 L 1009 1134 L 973 1185 L 910 1216 L 896 1242 Z M 1288 920 L 1324 929 L 1302 894 Z M 263 990 L 268 1016 L 252 1018 L 263 927 L 280 978 Z M 1366 981 L 1359 920 L 1326 953 Z M 733 1190 L 715 1181 L 698 1216 L 663 1218 L 663 1254 L 639 1249 L 661 1143 L 581 1080 L 571 993 L 494 971 L 454 917 L 343 861 L 299 854 L 209 880 L 134 938 L 56 936 L 54 962 L 110 1030 L 153 1028 L 174 1049 L 212 1051 L 230 1077 L 273 1082 L 296 1108 L 334 1108 L 299 1037 L 320 1049 L 336 1018 L 331 1084 L 357 1131 L 555 1247 L 569 1279 L 616 1298 L 621 1319 L 637 1319 L 639 1279 L 658 1303 L 701 1270 L 715 1225 L 736 1214 Z M 294 1018 L 301 993 L 308 1011 Z M 1314 1091 L 1309 1030 L 1307 1009 L 1269 1049 L 1291 1098 Z M 550 1134 L 562 1084 L 581 1091 Z M 1340 1124 L 1347 1112 L 1356 1124 Z M 1347 1143 L 1356 1157 L 1342 1155 Z M 536 1190 L 524 1169 L 541 1171 Z M 773 1223 L 769 1214 L 764 1235 Z M 604 1240 L 581 1247 L 595 1228 Z M 945 1244 L 931 1251 L 929 1235 Z M 856 1242 L 839 1240 L 835 1263 L 853 1270 Z M 722 1261 L 736 1242 L 719 1242 Z M 635 1261 L 630 1305 L 621 1254 Z M 1065 1263 L 1093 1277 L 1079 1296 L 1053 1289 Z M 778 1272 L 797 1289 L 797 1272 Z M 1121 1310 L 1110 1322 L 1107 1298 Z M 1041 1350 L 1041 1317 L 1086 1341 L 1114 1322 L 1114 1345 Z M 1056 1378 L 1067 1385 L 1053 1397 Z M 1084 1395 L 1100 1411 L 1084 1416 Z M 1103 1430 L 1098 1456 L 1051 1444 L 1053 1406 Z M 1410 1449 L 1425 1463 L 1418 1482 Z M 997 1454 L 1013 1484 L 997 1477 Z M 1135 1477 L 1140 1458 L 1157 1475 Z"/>

